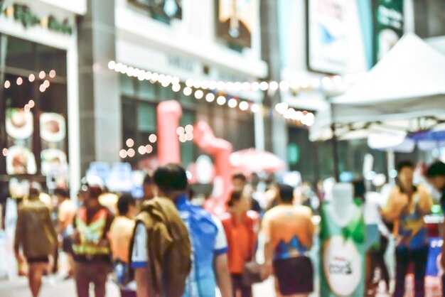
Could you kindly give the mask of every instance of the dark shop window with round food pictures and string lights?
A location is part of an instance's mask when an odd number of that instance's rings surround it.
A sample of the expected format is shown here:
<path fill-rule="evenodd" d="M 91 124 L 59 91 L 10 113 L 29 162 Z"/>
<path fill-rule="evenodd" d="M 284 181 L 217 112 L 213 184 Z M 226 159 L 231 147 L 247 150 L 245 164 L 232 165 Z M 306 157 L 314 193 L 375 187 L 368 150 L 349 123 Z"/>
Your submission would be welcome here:
<path fill-rule="evenodd" d="M 31 180 L 68 185 L 66 53 L 6 35 L 0 43 L 2 198 L 21 198 Z"/>

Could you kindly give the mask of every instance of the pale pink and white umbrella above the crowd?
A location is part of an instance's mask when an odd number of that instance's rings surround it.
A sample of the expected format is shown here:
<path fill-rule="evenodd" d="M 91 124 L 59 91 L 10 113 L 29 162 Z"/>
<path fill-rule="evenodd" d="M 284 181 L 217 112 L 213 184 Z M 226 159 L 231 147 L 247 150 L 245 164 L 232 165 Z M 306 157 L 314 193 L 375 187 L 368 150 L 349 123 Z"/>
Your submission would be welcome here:
<path fill-rule="evenodd" d="M 286 163 L 268 151 L 258 151 L 255 148 L 247 148 L 242 151 L 235 151 L 230 155 L 230 163 L 235 171 L 242 173 L 257 173 L 284 171 Z"/>

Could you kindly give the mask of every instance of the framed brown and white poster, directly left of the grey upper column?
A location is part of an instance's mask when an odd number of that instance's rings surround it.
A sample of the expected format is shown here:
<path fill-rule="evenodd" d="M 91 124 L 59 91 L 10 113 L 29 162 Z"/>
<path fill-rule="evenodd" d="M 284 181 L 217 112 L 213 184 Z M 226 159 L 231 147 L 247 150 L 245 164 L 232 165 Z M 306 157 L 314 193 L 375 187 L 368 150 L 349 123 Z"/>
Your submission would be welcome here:
<path fill-rule="evenodd" d="M 218 37 L 241 48 L 252 46 L 257 30 L 257 0 L 219 0 Z"/>

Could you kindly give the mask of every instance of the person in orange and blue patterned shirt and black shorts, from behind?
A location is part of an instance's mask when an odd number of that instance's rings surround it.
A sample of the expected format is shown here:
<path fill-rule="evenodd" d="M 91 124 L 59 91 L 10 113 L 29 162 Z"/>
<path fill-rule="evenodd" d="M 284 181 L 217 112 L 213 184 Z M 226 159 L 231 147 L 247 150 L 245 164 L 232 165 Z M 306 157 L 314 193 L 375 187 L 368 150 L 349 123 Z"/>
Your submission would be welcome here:
<path fill-rule="evenodd" d="M 262 222 L 264 269 L 262 277 L 275 276 L 277 296 L 309 296 L 313 266 L 307 253 L 312 247 L 312 211 L 294 206 L 294 188 L 279 185 L 279 205 L 267 211 Z"/>

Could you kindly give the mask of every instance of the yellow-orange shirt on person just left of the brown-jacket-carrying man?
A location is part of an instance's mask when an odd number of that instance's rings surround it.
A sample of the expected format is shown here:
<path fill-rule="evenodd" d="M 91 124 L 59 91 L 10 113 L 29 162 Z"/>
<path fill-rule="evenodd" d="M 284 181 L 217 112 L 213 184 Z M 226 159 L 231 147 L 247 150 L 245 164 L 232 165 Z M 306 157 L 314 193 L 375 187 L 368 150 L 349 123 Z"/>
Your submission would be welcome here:
<path fill-rule="evenodd" d="M 128 263 L 134 225 L 134 220 L 128 217 L 119 216 L 114 219 L 108 235 L 114 260 L 120 259 Z"/>

